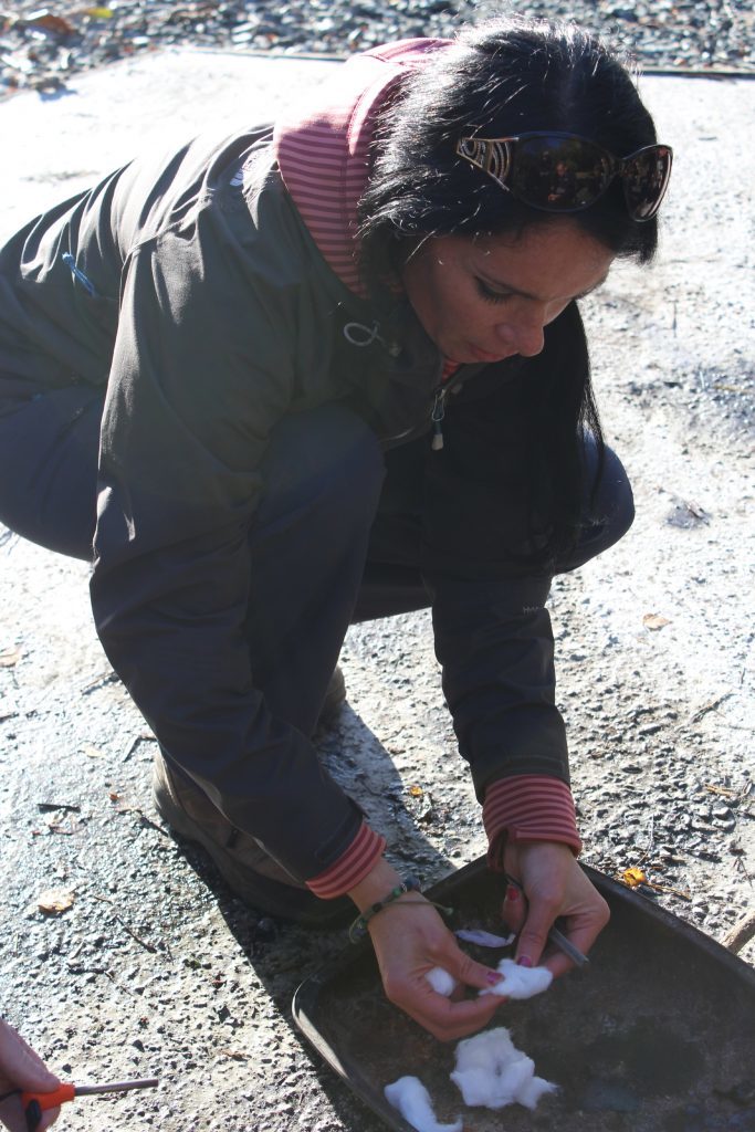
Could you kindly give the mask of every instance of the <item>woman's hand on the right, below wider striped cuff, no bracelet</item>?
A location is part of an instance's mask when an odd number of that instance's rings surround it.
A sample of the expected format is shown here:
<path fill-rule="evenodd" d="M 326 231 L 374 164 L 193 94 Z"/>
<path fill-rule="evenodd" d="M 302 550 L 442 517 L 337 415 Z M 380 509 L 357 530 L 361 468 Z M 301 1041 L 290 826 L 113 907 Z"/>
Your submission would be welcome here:
<path fill-rule="evenodd" d="M 608 904 L 568 846 L 551 841 L 507 846 L 504 863 L 524 887 L 523 898 L 511 885 L 504 902 L 504 919 L 518 934 L 517 962 L 537 967 L 542 961 L 554 975 L 563 975 L 574 964 L 563 952 L 546 950 L 554 920 L 560 917 L 564 934 L 586 954 L 608 924 Z"/>

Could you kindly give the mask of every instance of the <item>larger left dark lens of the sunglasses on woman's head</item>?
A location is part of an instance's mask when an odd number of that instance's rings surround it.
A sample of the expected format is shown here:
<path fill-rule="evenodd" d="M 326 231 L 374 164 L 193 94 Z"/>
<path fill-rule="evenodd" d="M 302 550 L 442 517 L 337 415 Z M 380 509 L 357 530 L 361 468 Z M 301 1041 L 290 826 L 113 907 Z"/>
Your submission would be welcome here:
<path fill-rule="evenodd" d="M 512 147 L 507 186 L 515 197 L 548 212 L 578 212 L 600 197 L 612 175 L 606 153 L 584 138 L 546 134 Z"/>

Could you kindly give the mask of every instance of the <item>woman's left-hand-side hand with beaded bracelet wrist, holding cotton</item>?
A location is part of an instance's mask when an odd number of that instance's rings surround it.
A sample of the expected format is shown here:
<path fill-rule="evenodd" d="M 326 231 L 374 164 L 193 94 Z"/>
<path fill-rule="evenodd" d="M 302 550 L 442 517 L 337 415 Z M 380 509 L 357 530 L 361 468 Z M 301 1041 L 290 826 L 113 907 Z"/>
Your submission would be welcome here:
<path fill-rule="evenodd" d="M 381 900 L 400 876 L 380 860 L 350 892 L 360 911 Z M 435 907 L 419 892 L 407 892 L 377 912 L 368 924 L 386 996 L 440 1041 L 475 1034 L 506 1000 L 498 995 L 462 998 L 464 987 L 479 990 L 498 983 L 498 971 L 470 959 Z M 424 977 L 443 967 L 460 983 L 451 998 L 437 994 Z"/>

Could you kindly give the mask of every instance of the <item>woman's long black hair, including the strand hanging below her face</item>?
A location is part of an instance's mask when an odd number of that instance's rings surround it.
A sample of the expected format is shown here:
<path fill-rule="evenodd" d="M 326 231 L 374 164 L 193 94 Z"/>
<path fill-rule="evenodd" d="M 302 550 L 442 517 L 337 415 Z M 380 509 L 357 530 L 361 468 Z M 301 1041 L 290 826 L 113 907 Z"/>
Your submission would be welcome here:
<path fill-rule="evenodd" d="M 517 238 L 534 225 L 568 221 L 616 256 L 652 259 L 657 221 L 629 217 L 618 179 L 583 212 L 555 216 L 521 204 L 456 155 L 462 136 L 527 130 L 578 134 L 617 156 L 657 140 L 629 72 L 586 32 L 511 18 L 465 31 L 410 72 L 379 115 L 358 209 L 362 275 L 376 298 L 434 237 Z M 548 367 L 537 374 L 534 385 L 524 383 L 523 427 L 531 436 L 531 515 L 544 509 L 549 516 L 540 557 L 552 564 L 578 535 L 584 431 L 595 436 L 599 468 L 603 444 L 586 352 L 575 350 L 558 367 L 558 380 L 549 379 Z M 533 541 L 542 544 L 534 530 Z"/>

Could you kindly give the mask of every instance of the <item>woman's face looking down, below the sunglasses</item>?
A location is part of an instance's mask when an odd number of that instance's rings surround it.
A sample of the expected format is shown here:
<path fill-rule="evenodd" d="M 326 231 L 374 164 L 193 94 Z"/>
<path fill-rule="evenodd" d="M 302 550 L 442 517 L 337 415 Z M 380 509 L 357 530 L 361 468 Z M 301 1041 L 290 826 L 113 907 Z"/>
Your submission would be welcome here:
<path fill-rule="evenodd" d="M 543 329 L 573 300 L 599 286 L 614 255 L 568 221 L 520 237 L 427 240 L 403 282 L 420 323 L 457 362 L 494 362 L 543 346 Z"/>

